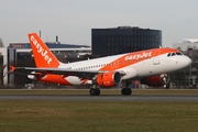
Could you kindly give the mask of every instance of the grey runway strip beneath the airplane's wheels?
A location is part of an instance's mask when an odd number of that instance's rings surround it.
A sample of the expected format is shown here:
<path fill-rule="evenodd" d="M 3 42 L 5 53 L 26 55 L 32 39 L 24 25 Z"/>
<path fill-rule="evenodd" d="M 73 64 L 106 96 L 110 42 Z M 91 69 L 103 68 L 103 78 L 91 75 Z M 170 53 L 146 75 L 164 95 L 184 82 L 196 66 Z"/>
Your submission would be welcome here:
<path fill-rule="evenodd" d="M 3 100 L 44 100 L 44 101 L 198 101 L 198 96 L 179 95 L 131 95 L 131 96 L 88 96 L 88 95 L 0 95 Z"/>

